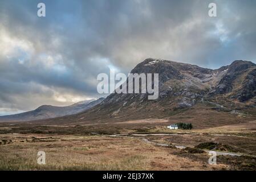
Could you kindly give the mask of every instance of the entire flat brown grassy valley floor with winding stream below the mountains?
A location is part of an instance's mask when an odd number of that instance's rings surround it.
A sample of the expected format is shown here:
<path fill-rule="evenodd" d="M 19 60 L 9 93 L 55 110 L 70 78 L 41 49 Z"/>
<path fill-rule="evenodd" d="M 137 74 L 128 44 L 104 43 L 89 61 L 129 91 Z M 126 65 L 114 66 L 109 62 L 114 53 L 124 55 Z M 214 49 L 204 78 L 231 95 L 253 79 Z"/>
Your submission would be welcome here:
<path fill-rule="evenodd" d="M 27 132 L 2 124 L 0 169 L 256 170 L 255 121 L 194 130 L 165 125 L 112 123 L 107 133 L 105 125 L 31 126 Z M 208 163 L 209 150 L 220 154 L 216 165 Z M 46 153 L 45 165 L 37 163 L 38 151 Z"/>

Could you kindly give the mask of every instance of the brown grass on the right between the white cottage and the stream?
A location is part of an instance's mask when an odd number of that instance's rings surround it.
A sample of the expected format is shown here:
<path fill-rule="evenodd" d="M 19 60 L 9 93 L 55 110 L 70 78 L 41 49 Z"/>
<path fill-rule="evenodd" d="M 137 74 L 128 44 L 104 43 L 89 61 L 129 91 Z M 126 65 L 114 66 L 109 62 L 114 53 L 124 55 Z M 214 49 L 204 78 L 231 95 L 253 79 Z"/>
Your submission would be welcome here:
<path fill-rule="evenodd" d="M 230 146 L 242 154 L 256 156 L 255 129 L 255 121 L 195 130 L 168 131 L 166 127 L 156 127 L 156 129 L 151 130 L 152 133 L 170 133 L 172 135 L 148 135 L 146 138 L 159 143 L 172 143 L 188 147 L 194 147 L 205 142 L 216 142 Z"/>

